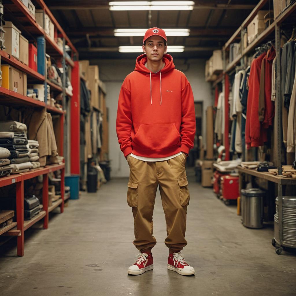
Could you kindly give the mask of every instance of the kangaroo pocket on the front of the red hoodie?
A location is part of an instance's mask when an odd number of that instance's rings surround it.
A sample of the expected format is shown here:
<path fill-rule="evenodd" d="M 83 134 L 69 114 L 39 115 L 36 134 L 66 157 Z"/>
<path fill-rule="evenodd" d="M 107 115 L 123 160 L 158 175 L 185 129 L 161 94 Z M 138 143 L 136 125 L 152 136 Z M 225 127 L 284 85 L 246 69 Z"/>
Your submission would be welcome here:
<path fill-rule="evenodd" d="M 145 123 L 134 136 L 135 146 L 149 150 L 163 150 L 180 145 L 180 133 L 175 123 Z"/>

